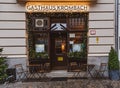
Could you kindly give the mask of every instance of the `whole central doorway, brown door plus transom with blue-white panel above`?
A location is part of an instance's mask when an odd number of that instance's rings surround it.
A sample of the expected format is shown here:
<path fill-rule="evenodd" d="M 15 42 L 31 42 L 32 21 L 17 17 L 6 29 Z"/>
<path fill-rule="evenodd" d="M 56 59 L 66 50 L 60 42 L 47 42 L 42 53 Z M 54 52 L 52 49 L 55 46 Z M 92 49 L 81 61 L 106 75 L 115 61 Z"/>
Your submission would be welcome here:
<path fill-rule="evenodd" d="M 50 17 L 50 57 L 53 70 L 67 69 L 67 19 L 66 15 Z"/>

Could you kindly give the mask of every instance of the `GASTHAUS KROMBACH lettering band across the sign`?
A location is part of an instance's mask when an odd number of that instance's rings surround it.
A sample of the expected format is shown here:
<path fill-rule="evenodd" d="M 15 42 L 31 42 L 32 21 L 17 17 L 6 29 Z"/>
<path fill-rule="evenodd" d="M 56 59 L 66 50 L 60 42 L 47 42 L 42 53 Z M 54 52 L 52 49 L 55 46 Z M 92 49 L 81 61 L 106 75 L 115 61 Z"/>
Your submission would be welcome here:
<path fill-rule="evenodd" d="M 85 12 L 87 5 L 39 5 L 26 4 L 28 12 Z"/>

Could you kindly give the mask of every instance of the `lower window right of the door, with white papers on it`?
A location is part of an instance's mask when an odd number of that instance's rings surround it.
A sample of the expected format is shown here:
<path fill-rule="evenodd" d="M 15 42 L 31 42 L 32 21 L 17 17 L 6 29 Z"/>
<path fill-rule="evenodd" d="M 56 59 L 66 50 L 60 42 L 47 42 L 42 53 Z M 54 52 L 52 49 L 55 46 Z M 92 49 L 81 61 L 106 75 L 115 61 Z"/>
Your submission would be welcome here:
<path fill-rule="evenodd" d="M 69 33 L 69 52 L 81 52 L 83 57 L 87 56 L 87 33 Z"/>

